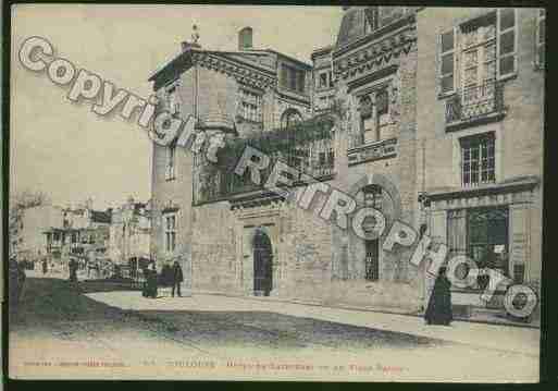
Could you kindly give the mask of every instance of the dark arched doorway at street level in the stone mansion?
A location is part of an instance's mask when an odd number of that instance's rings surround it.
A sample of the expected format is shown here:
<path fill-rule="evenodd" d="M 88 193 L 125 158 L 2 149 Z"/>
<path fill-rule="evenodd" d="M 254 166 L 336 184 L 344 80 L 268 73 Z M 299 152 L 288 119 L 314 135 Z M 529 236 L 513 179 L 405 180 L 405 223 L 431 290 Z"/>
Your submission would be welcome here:
<path fill-rule="evenodd" d="M 273 252 L 271 241 L 263 231 L 253 236 L 253 294 L 269 296 L 273 286 Z"/>

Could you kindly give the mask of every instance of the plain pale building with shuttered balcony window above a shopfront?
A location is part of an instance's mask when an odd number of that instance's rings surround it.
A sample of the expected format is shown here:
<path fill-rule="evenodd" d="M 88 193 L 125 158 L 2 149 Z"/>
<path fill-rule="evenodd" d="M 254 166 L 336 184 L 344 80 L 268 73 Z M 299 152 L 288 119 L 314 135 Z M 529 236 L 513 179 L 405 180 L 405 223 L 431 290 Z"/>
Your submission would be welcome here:
<path fill-rule="evenodd" d="M 450 254 L 513 283 L 541 280 L 544 10 L 423 9 L 418 13 L 417 174 L 421 219 Z M 500 285 L 454 298 L 501 307 Z"/>

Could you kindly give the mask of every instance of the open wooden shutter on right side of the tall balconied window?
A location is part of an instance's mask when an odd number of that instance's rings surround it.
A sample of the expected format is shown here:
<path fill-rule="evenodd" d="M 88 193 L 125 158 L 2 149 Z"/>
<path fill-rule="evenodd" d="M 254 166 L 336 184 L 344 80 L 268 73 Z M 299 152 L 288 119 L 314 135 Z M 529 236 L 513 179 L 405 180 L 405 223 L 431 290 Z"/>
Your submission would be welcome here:
<path fill-rule="evenodd" d="M 517 73 L 517 11 L 512 8 L 498 9 L 497 50 L 498 76 L 506 77 Z"/>

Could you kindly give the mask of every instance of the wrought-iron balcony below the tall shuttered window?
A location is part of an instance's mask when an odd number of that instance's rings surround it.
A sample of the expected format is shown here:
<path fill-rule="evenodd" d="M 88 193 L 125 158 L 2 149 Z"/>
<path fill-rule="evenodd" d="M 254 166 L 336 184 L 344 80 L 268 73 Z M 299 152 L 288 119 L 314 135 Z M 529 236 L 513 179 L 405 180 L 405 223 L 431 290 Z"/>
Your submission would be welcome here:
<path fill-rule="evenodd" d="M 446 100 L 446 131 L 499 121 L 505 114 L 504 84 L 486 82 L 458 90 Z"/>

